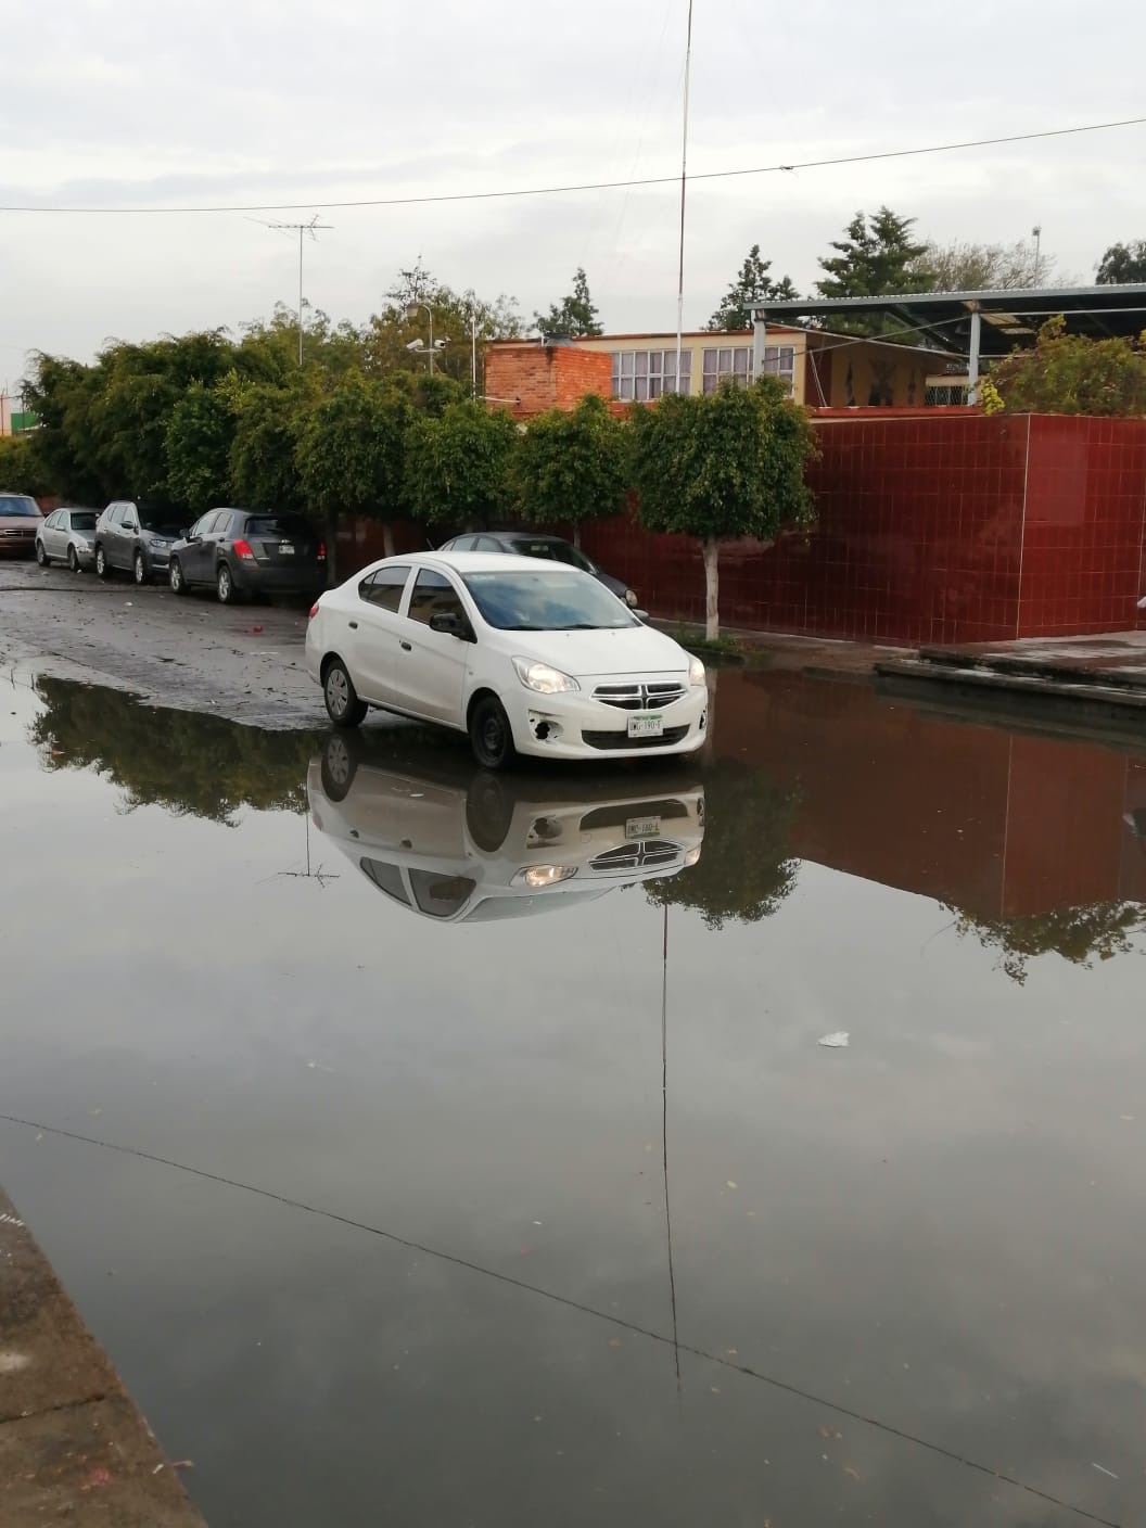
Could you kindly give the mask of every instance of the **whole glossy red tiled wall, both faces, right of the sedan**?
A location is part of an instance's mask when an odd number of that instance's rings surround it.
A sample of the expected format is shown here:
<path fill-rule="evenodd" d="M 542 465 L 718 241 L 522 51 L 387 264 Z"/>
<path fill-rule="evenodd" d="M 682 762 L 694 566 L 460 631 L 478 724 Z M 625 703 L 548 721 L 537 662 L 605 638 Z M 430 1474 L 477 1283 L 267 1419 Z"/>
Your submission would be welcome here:
<path fill-rule="evenodd" d="M 724 545 L 727 625 L 888 643 L 1146 626 L 1146 420 L 917 414 L 816 428 L 817 524 L 775 547 Z M 584 539 L 654 614 L 703 616 L 691 538 L 607 521 Z"/>

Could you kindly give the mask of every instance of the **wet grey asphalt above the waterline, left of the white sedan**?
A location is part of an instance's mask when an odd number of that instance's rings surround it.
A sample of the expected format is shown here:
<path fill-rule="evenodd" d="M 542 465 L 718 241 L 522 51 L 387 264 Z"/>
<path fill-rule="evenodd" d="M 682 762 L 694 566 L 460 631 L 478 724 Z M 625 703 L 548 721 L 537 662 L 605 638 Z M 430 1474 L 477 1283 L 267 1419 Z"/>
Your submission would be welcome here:
<path fill-rule="evenodd" d="M 260 727 L 325 720 L 303 668 L 307 602 L 222 607 L 127 576 L 0 561 L 0 665 L 130 689 L 142 700 Z"/>

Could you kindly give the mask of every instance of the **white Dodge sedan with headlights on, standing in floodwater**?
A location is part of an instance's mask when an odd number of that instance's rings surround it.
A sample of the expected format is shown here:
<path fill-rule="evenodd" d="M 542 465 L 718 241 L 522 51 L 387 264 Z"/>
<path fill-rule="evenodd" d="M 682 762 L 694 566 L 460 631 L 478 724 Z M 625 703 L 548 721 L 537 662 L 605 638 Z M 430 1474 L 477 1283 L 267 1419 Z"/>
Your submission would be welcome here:
<path fill-rule="evenodd" d="M 420 552 L 371 562 L 310 610 L 307 672 L 338 727 L 371 706 L 468 732 L 474 756 L 692 753 L 704 665 L 597 579 L 535 558 Z"/>

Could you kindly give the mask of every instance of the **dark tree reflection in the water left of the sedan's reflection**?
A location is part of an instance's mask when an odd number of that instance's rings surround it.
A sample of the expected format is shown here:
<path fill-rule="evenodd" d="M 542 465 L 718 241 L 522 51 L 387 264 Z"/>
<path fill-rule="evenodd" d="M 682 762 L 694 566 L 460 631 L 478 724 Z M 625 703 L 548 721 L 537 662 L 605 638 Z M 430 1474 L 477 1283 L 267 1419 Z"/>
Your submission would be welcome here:
<path fill-rule="evenodd" d="M 168 711 L 95 685 L 41 675 L 31 726 L 46 769 L 93 769 L 128 808 L 160 805 L 231 824 L 238 807 L 306 813 L 306 773 L 321 733 L 264 732 Z"/>

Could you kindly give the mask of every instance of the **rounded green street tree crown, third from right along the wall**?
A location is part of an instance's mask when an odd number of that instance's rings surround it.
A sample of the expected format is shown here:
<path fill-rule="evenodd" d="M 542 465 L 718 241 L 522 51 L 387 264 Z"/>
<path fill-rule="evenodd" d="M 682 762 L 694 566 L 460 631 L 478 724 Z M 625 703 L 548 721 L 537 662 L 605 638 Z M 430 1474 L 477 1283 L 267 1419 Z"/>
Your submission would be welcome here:
<path fill-rule="evenodd" d="M 486 526 L 506 513 L 516 426 L 501 410 L 466 400 L 406 432 L 405 492 L 423 524 Z"/>

